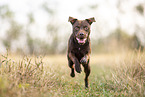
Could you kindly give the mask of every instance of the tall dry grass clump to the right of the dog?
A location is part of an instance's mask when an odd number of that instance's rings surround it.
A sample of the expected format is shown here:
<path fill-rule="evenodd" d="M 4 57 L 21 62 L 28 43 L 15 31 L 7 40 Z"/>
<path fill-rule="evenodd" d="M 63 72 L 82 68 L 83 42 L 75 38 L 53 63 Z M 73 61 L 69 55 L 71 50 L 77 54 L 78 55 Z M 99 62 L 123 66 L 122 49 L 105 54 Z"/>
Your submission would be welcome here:
<path fill-rule="evenodd" d="M 145 53 L 127 55 L 112 74 L 114 88 L 124 96 L 145 96 Z"/>

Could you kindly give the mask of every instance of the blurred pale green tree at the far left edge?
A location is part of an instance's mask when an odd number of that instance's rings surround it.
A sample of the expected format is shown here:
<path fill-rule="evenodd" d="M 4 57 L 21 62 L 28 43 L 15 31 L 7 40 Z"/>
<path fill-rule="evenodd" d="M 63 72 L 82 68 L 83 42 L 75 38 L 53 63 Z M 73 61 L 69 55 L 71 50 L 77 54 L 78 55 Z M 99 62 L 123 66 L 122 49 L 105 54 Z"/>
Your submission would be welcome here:
<path fill-rule="evenodd" d="M 8 5 L 0 6 L 0 18 L 2 22 L 9 23 L 10 27 L 7 29 L 2 42 L 7 49 L 11 50 L 11 43 L 19 38 L 23 26 L 14 20 L 14 13 L 9 9 Z"/>

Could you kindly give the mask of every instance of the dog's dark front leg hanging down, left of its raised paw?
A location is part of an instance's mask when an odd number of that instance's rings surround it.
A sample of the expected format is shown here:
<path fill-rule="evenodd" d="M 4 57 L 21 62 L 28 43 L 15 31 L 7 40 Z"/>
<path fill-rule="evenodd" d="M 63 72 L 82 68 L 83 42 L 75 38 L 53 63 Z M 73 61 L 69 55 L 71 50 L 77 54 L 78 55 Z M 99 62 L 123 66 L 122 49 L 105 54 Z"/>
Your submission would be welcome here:
<path fill-rule="evenodd" d="M 72 62 L 75 64 L 75 70 L 78 73 L 81 73 L 81 66 L 80 63 L 78 61 L 78 59 L 75 57 L 75 55 L 73 53 L 69 53 L 69 58 L 72 60 Z"/>

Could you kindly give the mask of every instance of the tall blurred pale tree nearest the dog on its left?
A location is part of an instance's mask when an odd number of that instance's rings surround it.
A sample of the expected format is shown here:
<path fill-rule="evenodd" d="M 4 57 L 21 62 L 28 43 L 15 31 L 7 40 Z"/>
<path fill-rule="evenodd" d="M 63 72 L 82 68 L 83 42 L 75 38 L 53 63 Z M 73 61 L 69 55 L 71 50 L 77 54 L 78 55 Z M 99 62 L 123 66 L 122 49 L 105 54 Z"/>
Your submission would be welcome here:
<path fill-rule="evenodd" d="M 49 42 L 47 50 L 49 50 L 49 54 L 55 54 L 55 53 L 59 53 L 59 50 L 58 50 L 59 44 L 63 37 L 60 37 L 60 34 L 59 34 L 60 25 L 58 25 L 57 22 L 55 22 L 56 19 L 54 19 L 57 14 L 56 4 L 54 4 L 55 7 L 48 6 L 48 5 L 50 4 L 46 2 L 42 5 L 42 8 L 44 9 L 44 11 L 46 11 L 49 15 L 49 21 L 46 27 L 47 35 L 48 35 L 48 42 Z"/>

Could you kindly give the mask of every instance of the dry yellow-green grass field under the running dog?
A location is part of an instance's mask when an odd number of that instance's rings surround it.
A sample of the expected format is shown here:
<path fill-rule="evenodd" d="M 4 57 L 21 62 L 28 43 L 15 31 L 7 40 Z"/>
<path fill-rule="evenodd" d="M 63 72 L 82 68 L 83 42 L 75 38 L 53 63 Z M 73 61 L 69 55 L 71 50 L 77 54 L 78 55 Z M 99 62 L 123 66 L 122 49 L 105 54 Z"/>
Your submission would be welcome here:
<path fill-rule="evenodd" d="M 143 97 L 145 54 L 91 55 L 88 89 L 84 76 L 70 77 L 66 55 L 0 55 L 0 97 Z"/>

